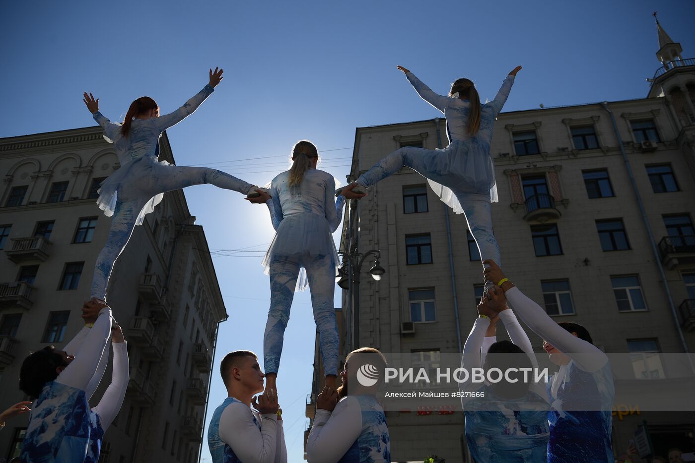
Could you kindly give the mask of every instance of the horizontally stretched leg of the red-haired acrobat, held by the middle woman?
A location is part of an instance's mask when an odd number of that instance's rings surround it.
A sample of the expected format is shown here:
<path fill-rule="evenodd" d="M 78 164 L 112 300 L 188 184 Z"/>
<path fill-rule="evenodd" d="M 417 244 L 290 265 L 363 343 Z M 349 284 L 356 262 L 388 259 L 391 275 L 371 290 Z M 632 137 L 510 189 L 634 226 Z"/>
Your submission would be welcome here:
<path fill-rule="evenodd" d="M 186 186 L 211 184 L 218 188 L 246 194 L 254 187 L 254 185 L 247 184 L 245 181 L 221 170 L 179 167 L 178 165 L 167 166 L 165 169 L 161 170 L 161 172 L 165 172 L 165 175 L 155 179 L 157 193 L 178 190 L 179 188 L 186 188 Z"/>

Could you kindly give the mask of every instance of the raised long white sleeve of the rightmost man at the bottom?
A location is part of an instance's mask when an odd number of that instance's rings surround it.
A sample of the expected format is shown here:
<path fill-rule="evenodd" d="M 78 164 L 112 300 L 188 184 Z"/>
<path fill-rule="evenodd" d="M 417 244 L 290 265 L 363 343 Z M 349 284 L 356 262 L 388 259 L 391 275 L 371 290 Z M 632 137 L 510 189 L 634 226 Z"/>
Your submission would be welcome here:
<path fill-rule="evenodd" d="M 593 344 L 579 339 L 555 323 L 545 310 L 527 298 L 516 286 L 505 293 L 507 302 L 519 318 L 542 339 L 573 359 L 583 371 L 596 371 L 608 362 L 608 357 Z"/>

